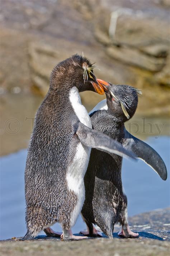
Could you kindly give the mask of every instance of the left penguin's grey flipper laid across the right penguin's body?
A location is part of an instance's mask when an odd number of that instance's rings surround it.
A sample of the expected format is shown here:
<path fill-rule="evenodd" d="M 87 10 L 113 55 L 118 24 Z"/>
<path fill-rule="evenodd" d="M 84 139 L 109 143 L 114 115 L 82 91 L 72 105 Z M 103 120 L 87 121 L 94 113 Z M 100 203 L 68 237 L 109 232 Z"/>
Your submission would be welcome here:
<path fill-rule="evenodd" d="M 90 129 L 81 122 L 77 124 L 76 134 L 81 143 L 90 148 L 96 148 L 107 153 L 114 153 L 121 157 L 136 159 L 136 155 L 130 150 L 123 148 L 122 144 L 109 136 Z"/>

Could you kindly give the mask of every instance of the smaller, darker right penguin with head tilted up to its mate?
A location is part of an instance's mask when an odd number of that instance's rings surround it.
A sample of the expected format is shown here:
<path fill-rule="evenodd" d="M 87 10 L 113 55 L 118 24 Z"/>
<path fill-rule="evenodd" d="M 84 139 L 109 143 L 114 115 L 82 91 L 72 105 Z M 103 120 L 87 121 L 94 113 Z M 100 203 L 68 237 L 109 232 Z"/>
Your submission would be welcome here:
<path fill-rule="evenodd" d="M 93 129 L 103 132 L 119 141 L 124 148 L 132 150 L 137 158 L 142 159 L 157 174 L 166 180 L 166 166 L 160 155 L 149 145 L 135 138 L 124 127 L 124 122 L 131 118 L 137 108 L 137 90 L 128 85 L 108 87 L 106 100 L 101 101 L 89 113 Z M 80 233 L 98 236 L 93 224 L 97 224 L 109 238 L 113 238 L 115 223 L 122 225 L 119 236 L 135 238 L 138 233 L 129 229 L 127 217 L 127 197 L 124 194 L 121 178 L 122 157 L 97 149 L 91 150 L 88 169 L 84 177 L 85 202 L 81 211 L 88 231 Z"/>

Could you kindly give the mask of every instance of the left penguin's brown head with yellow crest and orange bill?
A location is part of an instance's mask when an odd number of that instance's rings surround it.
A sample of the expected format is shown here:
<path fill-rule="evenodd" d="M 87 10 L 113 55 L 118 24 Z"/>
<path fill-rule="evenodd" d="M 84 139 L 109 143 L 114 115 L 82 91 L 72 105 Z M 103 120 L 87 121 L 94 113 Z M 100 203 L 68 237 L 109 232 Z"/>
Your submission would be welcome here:
<path fill-rule="evenodd" d="M 58 63 L 50 75 L 50 89 L 70 89 L 77 87 L 79 92 L 91 90 L 104 94 L 105 85 L 109 83 L 96 79 L 93 69 L 94 64 L 84 56 L 75 54 Z"/>

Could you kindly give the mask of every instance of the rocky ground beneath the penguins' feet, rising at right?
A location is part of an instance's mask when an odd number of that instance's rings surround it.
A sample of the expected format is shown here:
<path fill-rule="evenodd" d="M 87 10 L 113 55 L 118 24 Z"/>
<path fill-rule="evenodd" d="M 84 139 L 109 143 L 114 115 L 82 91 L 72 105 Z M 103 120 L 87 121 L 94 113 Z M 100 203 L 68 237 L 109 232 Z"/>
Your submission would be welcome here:
<path fill-rule="evenodd" d="M 2 256 L 13 255 L 106 255 L 106 256 L 168 256 L 170 250 L 170 208 L 158 209 L 129 218 L 131 229 L 139 233 L 137 239 L 122 239 L 114 229 L 114 240 L 91 238 L 63 242 L 57 238 L 38 236 L 33 241 L 8 239 L 0 242 Z"/>

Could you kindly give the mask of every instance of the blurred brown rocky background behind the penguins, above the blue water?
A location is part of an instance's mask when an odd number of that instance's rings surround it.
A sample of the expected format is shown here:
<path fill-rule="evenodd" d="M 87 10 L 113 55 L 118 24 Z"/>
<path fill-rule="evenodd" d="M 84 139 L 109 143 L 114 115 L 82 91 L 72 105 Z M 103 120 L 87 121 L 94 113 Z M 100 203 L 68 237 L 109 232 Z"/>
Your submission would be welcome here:
<path fill-rule="evenodd" d="M 169 0 L 1 0 L 0 8 L 1 154 L 27 147 L 53 66 L 76 52 L 96 62 L 96 77 L 142 90 L 136 115 L 169 116 Z M 104 96 L 81 98 L 90 110 Z"/>

